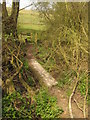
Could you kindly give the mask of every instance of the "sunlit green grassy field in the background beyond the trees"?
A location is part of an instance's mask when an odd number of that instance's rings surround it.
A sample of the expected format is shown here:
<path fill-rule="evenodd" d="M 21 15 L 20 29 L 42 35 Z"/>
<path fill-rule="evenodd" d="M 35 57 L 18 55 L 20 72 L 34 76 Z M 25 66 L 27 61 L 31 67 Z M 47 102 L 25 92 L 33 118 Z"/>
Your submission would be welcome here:
<path fill-rule="evenodd" d="M 22 10 L 18 18 L 18 32 L 29 33 L 31 31 L 43 31 L 45 25 L 39 13 L 32 10 Z"/>

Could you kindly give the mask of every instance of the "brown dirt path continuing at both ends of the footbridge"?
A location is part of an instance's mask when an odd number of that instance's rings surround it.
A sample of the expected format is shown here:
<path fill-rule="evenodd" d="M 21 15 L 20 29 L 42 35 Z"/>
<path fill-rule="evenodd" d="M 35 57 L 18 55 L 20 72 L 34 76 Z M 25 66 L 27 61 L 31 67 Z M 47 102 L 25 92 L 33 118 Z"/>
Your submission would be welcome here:
<path fill-rule="evenodd" d="M 32 48 L 33 48 L 32 45 L 27 45 L 27 59 L 29 60 L 29 62 L 31 62 L 31 59 L 36 59 L 33 56 Z M 39 68 L 37 68 L 37 69 L 39 69 Z M 52 96 L 55 96 L 57 98 L 58 106 L 64 110 L 63 114 L 61 115 L 61 118 L 70 118 L 69 104 L 68 104 L 69 103 L 69 97 L 66 95 L 66 90 L 58 88 L 57 86 L 52 86 L 52 87 L 49 88 L 49 93 Z M 78 101 L 78 98 L 79 97 L 76 94 L 75 99 L 77 101 Z M 79 100 L 81 100 L 81 99 L 79 99 Z M 74 118 L 83 118 L 83 112 L 77 107 L 77 104 L 75 103 L 74 100 L 72 100 L 72 111 L 73 111 L 73 117 Z"/>

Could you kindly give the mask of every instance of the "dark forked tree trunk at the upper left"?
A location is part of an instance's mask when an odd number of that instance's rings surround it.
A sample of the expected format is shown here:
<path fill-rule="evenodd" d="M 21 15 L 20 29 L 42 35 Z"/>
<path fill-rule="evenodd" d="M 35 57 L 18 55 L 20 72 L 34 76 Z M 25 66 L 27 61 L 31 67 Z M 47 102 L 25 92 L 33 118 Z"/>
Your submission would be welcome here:
<path fill-rule="evenodd" d="M 3 34 L 11 34 L 16 37 L 17 36 L 17 19 L 19 15 L 19 2 L 12 2 L 12 12 L 11 15 L 8 16 L 8 12 L 6 9 L 6 3 L 4 2 L 2 5 L 3 10 Z"/>

